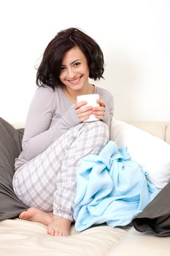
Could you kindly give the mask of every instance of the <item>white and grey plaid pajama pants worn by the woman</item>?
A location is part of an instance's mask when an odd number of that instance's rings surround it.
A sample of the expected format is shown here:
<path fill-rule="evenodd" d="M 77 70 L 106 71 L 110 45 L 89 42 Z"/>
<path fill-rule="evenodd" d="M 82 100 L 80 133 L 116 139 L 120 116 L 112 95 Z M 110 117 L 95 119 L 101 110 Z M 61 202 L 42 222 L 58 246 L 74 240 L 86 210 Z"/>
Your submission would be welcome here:
<path fill-rule="evenodd" d="M 81 159 L 87 154 L 98 154 L 108 140 L 109 129 L 103 121 L 72 127 L 15 171 L 15 194 L 28 207 L 53 211 L 56 216 L 73 220 L 76 175 Z"/>

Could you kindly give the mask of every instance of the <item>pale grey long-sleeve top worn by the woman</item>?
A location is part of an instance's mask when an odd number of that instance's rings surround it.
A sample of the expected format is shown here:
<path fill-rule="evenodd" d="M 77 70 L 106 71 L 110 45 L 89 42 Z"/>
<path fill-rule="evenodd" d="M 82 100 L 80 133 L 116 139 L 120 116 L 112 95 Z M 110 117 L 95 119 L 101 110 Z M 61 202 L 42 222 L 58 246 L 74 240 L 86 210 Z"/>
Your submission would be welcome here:
<path fill-rule="evenodd" d="M 99 94 L 106 103 L 102 120 L 110 127 L 113 116 L 112 94 L 97 86 L 93 93 Z M 66 97 L 61 87 L 55 91 L 49 86 L 36 89 L 26 119 L 23 151 L 15 159 L 15 169 L 45 151 L 53 141 L 80 122 L 74 104 Z"/>

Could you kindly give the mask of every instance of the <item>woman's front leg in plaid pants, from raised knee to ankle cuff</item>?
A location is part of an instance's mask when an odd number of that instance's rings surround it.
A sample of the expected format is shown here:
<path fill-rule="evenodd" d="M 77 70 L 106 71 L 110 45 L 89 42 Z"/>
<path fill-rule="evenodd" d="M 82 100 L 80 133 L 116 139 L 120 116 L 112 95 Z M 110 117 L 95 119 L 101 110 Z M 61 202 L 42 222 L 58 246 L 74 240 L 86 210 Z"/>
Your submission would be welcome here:
<path fill-rule="evenodd" d="M 84 123 L 84 126 L 77 132 L 58 172 L 53 201 L 55 215 L 72 219 L 76 176 L 81 159 L 88 154 L 98 154 L 108 140 L 109 131 L 103 121 Z"/>

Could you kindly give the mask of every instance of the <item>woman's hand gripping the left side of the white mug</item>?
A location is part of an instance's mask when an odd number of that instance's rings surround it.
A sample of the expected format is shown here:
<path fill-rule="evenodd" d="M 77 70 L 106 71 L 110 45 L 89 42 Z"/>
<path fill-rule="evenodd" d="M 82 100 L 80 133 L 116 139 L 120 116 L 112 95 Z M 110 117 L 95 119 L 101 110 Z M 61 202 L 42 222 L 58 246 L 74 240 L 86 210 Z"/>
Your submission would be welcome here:
<path fill-rule="evenodd" d="M 88 102 L 86 101 L 82 101 L 82 102 L 77 102 L 75 104 L 75 110 L 77 112 L 77 116 L 80 118 L 81 121 L 87 120 L 89 116 L 93 114 L 93 107 L 91 106 L 85 107 L 87 103 Z"/>

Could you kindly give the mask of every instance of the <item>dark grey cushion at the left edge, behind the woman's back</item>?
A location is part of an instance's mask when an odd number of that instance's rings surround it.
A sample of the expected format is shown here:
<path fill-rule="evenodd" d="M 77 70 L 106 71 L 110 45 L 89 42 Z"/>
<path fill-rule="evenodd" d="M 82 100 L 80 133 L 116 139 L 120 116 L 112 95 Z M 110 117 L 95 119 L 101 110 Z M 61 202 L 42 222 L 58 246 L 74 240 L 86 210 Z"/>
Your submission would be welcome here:
<path fill-rule="evenodd" d="M 0 220 L 18 217 L 28 208 L 12 189 L 15 158 L 21 151 L 23 129 L 15 129 L 0 118 Z"/>

